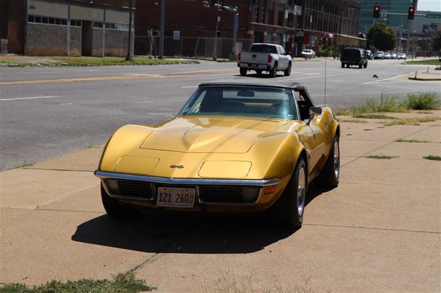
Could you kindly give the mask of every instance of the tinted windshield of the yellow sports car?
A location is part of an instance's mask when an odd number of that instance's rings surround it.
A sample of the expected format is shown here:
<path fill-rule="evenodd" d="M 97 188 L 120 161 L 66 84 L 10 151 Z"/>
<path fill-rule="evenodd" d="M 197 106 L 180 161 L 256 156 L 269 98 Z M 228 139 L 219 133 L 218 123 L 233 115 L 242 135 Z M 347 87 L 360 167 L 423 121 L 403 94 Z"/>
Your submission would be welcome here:
<path fill-rule="evenodd" d="M 179 116 L 251 116 L 298 120 L 293 92 L 263 87 L 200 87 Z"/>

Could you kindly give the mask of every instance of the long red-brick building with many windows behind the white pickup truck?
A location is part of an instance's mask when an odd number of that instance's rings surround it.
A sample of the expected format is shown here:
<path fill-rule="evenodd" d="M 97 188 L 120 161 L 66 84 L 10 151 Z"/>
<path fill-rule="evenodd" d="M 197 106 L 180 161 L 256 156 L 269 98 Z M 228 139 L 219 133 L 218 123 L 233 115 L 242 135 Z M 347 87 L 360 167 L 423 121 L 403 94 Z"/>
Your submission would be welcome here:
<path fill-rule="evenodd" d="M 147 30 L 159 28 L 160 1 L 137 3 L 135 54 L 150 54 Z M 165 55 L 212 56 L 215 41 L 216 55 L 222 57 L 247 50 L 253 42 L 277 43 L 293 55 L 305 47 L 318 50 L 322 44 L 365 45 L 365 40 L 358 38 L 357 1 L 227 0 L 226 5 L 238 9 L 236 47 L 232 40 L 234 12 L 205 7 L 202 0 L 165 0 Z"/>

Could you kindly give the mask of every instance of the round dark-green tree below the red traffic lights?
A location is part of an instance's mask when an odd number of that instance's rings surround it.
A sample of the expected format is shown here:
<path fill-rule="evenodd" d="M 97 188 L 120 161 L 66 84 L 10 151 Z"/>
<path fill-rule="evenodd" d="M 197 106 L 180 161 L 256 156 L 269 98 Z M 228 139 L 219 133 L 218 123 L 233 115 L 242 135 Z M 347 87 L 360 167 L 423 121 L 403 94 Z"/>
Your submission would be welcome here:
<path fill-rule="evenodd" d="M 378 50 L 389 51 L 397 45 L 397 33 L 386 23 L 373 23 L 366 32 L 369 44 Z"/>

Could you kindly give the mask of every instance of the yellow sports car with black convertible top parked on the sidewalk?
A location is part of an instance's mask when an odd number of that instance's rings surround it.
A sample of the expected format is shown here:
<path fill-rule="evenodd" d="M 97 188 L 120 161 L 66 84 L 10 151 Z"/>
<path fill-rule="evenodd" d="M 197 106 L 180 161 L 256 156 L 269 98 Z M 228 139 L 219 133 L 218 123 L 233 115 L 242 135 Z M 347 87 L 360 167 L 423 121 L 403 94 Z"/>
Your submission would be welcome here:
<path fill-rule="evenodd" d="M 308 184 L 338 185 L 340 126 L 307 89 L 245 79 L 202 83 L 176 118 L 126 125 L 95 175 L 108 215 L 140 207 L 196 213 L 273 210 L 301 226 Z"/>

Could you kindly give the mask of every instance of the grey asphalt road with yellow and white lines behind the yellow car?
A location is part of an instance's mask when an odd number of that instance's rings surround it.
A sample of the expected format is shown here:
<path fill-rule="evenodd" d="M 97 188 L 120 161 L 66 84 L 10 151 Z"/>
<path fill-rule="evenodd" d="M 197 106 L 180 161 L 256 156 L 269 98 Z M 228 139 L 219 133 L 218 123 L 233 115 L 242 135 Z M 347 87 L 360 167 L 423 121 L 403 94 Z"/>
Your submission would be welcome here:
<path fill-rule="evenodd" d="M 367 98 L 379 99 L 382 92 L 400 98 L 418 91 L 441 93 L 439 83 L 396 78 L 424 68 L 400 63 L 369 61 L 367 69 L 348 69 L 328 59 L 327 105 L 349 107 Z M 299 61 L 291 76 L 281 74 L 274 80 L 302 83 L 316 104 L 325 103 L 324 60 Z M 123 124 L 163 122 L 181 109 L 199 83 L 238 76 L 236 63 L 214 62 L 1 68 L 0 171 L 104 144 Z"/>

